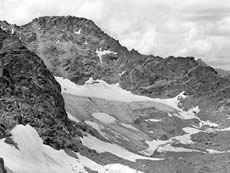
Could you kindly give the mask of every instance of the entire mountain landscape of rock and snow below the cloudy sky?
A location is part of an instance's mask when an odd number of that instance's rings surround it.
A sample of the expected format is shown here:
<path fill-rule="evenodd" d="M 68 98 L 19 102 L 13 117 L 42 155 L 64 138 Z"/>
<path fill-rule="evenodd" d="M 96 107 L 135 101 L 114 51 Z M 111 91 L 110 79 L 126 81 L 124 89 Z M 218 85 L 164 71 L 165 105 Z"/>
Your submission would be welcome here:
<path fill-rule="evenodd" d="M 228 173 L 230 78 L 93 21 L 0 21 L 0 173 Z"/>

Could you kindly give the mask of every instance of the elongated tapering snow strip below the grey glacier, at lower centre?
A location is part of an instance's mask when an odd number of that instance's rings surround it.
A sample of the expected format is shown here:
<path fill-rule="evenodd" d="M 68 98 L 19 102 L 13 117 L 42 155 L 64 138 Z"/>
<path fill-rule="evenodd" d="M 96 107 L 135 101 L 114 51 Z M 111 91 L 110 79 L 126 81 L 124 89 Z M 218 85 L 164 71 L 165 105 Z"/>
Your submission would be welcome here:
<path fill-rule="evenodd" d="M 144 159 L 144 160 L 161 160 L 158 158 L 150 158 L 141 156 L 135 153 L 132 153 L 125 148 L 122 148 L 121 146 L 117 144 L 111 144 L 104 141 L 101 141 L 97 139 L 94 136 L 88 135 L 84 136 L 82 139 L 82 144 L 85 145 L 88 148 L 96 150 L 98 153 L 103 152 L 110 152 L 120 158 L 123 158 L 125 160 L 129 160 L 131 162 L 135 162 L 137 159 Z"/>

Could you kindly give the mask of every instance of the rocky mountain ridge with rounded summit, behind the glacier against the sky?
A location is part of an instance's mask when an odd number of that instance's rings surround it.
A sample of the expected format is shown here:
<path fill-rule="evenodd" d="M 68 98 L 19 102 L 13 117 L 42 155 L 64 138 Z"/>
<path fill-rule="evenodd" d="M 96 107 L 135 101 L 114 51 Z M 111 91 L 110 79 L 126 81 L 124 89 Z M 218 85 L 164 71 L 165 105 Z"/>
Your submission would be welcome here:
<path fill-rule="evenodd" d="M 214 115 L 220 107 L 225 113 L 229 110 L 230 80 L 193 57 L 161 58 L 128 51 L 93 21 L 73 16 L 40 17 L 23 26 L 0 22 L 0 26 L 39 55 L 54 75 L 77 84 L 93 77 L 153 98 L 184 91 L 190 96 L 184 107 L 201 104 L 206 115 Z"/>

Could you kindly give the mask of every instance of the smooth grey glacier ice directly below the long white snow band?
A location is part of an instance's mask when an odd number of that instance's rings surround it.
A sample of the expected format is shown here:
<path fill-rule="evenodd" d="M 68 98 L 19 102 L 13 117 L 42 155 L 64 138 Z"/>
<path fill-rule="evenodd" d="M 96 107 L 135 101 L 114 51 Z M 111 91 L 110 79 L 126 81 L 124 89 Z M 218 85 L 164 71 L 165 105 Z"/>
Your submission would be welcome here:
<path fill-rule="evenodd" d="M 65 108 L 80 121 L 89 120 L 95 112 L 103 112 L 124 123 L 132 123 L 139 116 L 135 110 L 156 108 L 162 112 L 175 112 L 168 105 L 157 102 L 120 102 L 62 93 Z"/>

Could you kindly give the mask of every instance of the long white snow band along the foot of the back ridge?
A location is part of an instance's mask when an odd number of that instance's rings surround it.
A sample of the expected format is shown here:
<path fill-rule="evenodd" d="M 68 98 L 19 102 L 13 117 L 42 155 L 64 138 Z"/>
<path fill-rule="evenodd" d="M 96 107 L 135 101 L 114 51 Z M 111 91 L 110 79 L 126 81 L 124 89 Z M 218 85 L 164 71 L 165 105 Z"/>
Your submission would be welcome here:
<path fill-rule="evenodd" d="M 122 89 L 119 84 L 108 84 L 103 80 L 93 80 L 92 78 L 90 78 L 88 81 L 85 82 L 84 85 L 77 85 L 72 81 L 62 77 L 55 78 L 62 87 L 62 93 L 66 94 L 126 103 L 140 102 L 141 104 L 141 102 L 145 102 L 144 104 L 146 104 L 146 102 L 151 102 L 155 103 L 155 107 L 159 107 L 159 109 L 163 105 L 167 105 L 168 107 L 171 107 L 171 109 L 173 109 L 174 111 L 177 110 L 181 118 L 183 119 L 196 118 L 196 116 L 194 116 L 194 112 L 199 112 L 198 107 L 190 109 L 186 112 L 182 111 L 178 107 L 180 100 L 186 97 L 183 93 L 170 99 L 150 98 L 146 96 L 132 94 L 130 91 Z M 167 107 L 164 107 L 162 109 L 165 108 L 167 109 Z M 171 110 L 171 112 L 173 112 L 173 110 Z"/>

